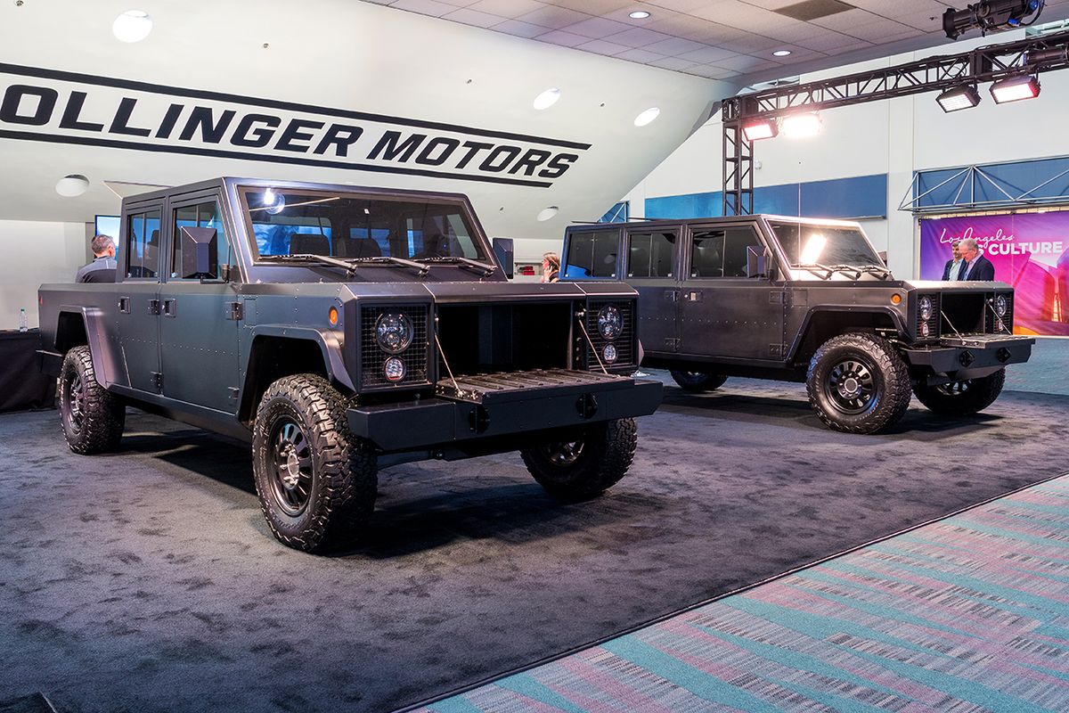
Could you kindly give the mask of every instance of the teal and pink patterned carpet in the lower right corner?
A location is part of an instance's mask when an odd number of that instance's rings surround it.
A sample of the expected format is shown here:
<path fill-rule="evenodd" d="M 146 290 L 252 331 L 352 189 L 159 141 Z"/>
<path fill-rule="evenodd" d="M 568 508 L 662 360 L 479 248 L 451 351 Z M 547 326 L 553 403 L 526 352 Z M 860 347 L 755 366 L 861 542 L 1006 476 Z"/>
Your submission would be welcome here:
<path fill-rule="evenodd" d="M 1069 710 L 1069 474 L 420 711 Z"/>

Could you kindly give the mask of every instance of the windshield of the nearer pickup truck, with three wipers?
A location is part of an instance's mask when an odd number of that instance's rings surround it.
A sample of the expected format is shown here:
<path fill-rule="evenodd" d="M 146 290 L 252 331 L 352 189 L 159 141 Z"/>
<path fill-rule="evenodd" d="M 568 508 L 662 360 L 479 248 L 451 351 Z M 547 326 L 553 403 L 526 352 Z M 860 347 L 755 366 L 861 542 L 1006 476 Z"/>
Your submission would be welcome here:
<path fill-rule="evenodd" d="M 284 188 L 244 188 L 241 197 L 258 259 L 486 259 L 456 204 Z"/>

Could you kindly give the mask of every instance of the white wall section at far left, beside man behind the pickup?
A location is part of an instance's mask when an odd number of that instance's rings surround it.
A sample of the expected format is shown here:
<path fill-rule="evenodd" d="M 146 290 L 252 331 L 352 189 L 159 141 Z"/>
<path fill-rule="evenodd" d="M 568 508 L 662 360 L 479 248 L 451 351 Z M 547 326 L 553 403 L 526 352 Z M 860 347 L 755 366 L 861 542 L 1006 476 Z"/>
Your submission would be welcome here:
<path fill-rule="evenodd" d="M 0 329 L 18 327 L 26 308 L 37 326 L 37 288 L 43 282 L 72 282 L 86 264 L 86 224 L 38 220 L 0 220 Z"/>

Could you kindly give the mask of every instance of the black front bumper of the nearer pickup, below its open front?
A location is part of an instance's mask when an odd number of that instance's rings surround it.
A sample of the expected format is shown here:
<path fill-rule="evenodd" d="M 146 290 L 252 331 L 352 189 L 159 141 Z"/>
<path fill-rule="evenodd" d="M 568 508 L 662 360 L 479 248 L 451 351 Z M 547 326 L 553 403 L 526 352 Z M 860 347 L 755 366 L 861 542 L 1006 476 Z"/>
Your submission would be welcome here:
<path fill-rule="evenodd" d="M 355 406 L 347 416 L 354 435 L 401 452 L 646 416 L 662 390 L 661 382 L 589 372 L 500 374 L 439 385 L 431 399 Z"/>

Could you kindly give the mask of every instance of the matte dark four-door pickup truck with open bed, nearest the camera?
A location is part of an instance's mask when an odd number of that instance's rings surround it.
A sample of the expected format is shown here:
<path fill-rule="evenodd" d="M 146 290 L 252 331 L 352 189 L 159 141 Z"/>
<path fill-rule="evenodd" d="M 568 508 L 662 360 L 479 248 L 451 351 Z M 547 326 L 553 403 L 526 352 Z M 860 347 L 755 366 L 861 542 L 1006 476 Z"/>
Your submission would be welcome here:
<path fill-rule="evenodd" d="M 462 195 L 219 179 L 124 199 L 119 245 L 114 284 L 41 288 L 67 444 L 115 449 L 127 405 L 245 438 L 299 549 L 347 540 L 400 462 L 518 450 L 593 497 L 661 402 L 629 376 L 636 293 L 509 282 Z"/>

